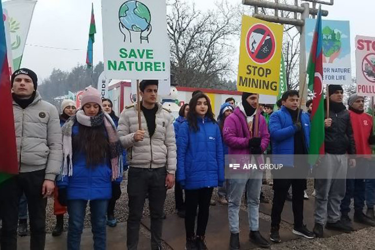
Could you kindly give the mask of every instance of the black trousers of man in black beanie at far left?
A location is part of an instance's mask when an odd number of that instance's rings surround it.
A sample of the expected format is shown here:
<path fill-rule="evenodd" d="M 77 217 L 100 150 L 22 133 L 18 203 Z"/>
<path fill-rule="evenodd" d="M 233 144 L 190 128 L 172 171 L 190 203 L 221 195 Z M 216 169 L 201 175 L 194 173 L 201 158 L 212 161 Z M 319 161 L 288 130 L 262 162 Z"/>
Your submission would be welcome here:
<path fill-rule="evenodd" d="M 46 240 L 47 198 L 42 196 L 45 170 L 19 173 L 0 184 L 0 219 L 3 223 L 2 250 L 17 249 L 19 200 L 24 192 L 30 220 L 30 249 L 42 250 Z"/>

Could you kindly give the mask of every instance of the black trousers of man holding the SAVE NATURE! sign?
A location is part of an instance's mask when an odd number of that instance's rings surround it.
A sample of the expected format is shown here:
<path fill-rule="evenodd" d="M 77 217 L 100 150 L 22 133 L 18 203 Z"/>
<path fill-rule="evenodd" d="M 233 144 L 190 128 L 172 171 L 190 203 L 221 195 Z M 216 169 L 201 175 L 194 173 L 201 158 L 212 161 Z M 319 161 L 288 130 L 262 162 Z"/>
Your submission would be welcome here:
<path fill-rule="evenodd" d="M 151 249 L 159 249 L 162 238 L 164 201 L 167 195 L 165 187 L 167 170 L 165 167 L 153 169 L 130 167 L 128 171 L 128 250 L 137 249 L 139 225 L 147 193 L 151 212 Z"/>

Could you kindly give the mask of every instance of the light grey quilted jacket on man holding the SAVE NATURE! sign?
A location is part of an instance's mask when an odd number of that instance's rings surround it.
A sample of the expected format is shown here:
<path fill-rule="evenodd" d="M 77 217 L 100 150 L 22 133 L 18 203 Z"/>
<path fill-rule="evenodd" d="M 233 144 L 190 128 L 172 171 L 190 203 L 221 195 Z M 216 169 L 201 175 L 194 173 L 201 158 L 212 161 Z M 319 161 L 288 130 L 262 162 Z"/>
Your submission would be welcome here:
<path fill-rule="evenodd" d="M 121 144 L 127 149 L 128 163 L 131 167 L 159 168 L 166 166 L 167 172 L 176 171 L 176 140 L 173 118 L 169 111 L 157 103 L 155 133 L 150 138 L 146 118 L 141 112 L 141 125 L 145 131 L 143 141 L 134 142 L 138 130 L 138 113 L 136 104 L 128 106 L 120 115 L 118 132 Z"/>

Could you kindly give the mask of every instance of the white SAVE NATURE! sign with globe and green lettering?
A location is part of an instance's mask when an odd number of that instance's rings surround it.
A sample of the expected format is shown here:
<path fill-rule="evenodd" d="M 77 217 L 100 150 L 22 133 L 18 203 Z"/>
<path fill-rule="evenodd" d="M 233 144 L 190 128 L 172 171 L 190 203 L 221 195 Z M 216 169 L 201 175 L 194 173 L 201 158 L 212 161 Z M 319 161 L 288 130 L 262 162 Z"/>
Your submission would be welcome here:
<path fill-rule="evenodd" d="M 165 0 L 102 0 L 108 79 L 170 77 Z"/>

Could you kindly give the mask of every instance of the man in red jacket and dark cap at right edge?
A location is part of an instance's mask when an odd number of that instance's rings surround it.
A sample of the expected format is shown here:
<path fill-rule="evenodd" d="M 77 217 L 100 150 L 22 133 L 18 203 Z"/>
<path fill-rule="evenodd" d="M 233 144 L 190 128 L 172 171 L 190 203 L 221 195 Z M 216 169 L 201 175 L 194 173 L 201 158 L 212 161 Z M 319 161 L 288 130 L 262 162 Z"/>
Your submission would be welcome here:
<path fill-rule="evenodd" d="M 366 174 L 371 161 L 370 144 L 375 137 L 372 132 L 372 117 L 364 113 L 364 97 L 353 94 L 348 99 L 350 121 L 357 154 L 356 168 L 348 168 L 346 194 L 341 203 L 341 220 L 352 227 L 350 218 L 350 200 L 354 197 L 354 221 L 375 226 L 375 221 L 363 213 Z M 373 166 L 371 166 L 373 167 Z"/>

